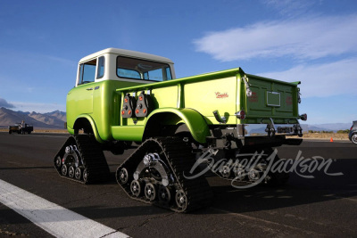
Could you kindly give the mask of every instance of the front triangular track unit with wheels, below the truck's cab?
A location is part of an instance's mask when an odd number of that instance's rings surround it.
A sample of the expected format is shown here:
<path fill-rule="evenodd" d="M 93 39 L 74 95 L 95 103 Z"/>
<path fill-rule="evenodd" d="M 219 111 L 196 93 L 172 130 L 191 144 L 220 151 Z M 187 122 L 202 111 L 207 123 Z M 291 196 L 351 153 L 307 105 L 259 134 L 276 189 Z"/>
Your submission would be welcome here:
<path fill-rule="evenodd" d="M 64 178 L 81 184 L 107 181 L 110 176 L 100 144 L 94 135 L 73 135 L 54 157 L 54 168 Z"/>

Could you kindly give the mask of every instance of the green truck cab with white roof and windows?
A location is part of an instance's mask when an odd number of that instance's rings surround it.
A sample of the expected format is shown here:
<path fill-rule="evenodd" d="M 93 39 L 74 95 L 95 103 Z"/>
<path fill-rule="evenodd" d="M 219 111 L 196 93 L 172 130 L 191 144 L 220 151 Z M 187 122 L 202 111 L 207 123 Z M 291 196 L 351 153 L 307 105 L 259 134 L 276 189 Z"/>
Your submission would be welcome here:
<path fill-rule="evenodd" d="M 149 53 L 108 48 L 79 61 L 76 84 L 67 95 L 67 128 L 112 140 L 119 126 L 120 95 L 116 89 L 176 78 L 170 59 Z M 98 130 L 100 135 L 98 134 Z"/>

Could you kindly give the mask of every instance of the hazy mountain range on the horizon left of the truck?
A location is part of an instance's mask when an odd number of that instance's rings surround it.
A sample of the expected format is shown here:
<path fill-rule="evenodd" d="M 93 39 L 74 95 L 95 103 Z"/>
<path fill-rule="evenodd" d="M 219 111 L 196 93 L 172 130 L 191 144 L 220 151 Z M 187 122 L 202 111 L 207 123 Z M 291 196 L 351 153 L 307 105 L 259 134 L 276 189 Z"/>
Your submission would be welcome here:
<path fill-rule="evenodd" d="M 22 120 L 32 124 L 36 128 L 62 129 L 66 121 L 66 112 L 52 111 L 47 113 L 37 113 L 35 111 L 23 112 L 12 111 L 4 107 L 0 108 L 0 127 L 7 127 Z"/>

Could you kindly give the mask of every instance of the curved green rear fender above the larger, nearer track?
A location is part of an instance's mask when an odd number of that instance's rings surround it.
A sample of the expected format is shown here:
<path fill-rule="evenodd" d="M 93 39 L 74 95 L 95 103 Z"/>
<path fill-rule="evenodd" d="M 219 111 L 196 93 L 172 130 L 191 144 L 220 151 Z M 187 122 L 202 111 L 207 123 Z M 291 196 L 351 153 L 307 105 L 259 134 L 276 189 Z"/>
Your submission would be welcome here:
<path fill-rule="evenodd" d="M 181 120 L 184 121 L 188 127 L 191 135 L 199 143 L 206 142 L 206 136 L 211 135 L 210 129 L 206 121 L 203 119 L 203 116 L 193 109 L 183 108 L 161 108 L 150 113 L 149 117 L 146 120 L 146 125 L 149 125 L 150 122 L 153 122 L 157 116 L 176 114 Z"/>

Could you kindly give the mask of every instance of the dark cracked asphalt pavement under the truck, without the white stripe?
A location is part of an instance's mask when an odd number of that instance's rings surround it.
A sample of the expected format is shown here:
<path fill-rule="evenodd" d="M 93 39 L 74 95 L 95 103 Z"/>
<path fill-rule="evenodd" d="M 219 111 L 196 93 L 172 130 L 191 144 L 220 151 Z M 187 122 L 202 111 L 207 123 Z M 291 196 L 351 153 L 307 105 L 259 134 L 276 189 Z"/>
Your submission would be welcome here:
<path fill-rule="evenodd" d="M 237 189 L 208 175 L 212 206 L 179 214 L 130 200 L 120 190 L 114 172 L 133 150 L 120 156 L 105 152 L 112 172 L 108 183 L 60 178 L 53 158 L 67 136 L 0 133 L 0 179 L 132 237 L 357 236 L 357 146 L 351 143 L 306 141 L 278 148 L 284 159 L 296 160 L 299 151 L 304 159 L 334 159 L 327 172 L 342 176 L 328 176 L 322 168 L 308 173 L 313 178 L 293 172 L 282 187 Z M 51 237 L 2 204 L 0 236 Z"/>

